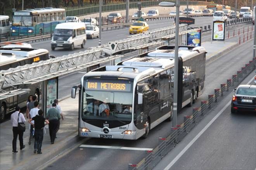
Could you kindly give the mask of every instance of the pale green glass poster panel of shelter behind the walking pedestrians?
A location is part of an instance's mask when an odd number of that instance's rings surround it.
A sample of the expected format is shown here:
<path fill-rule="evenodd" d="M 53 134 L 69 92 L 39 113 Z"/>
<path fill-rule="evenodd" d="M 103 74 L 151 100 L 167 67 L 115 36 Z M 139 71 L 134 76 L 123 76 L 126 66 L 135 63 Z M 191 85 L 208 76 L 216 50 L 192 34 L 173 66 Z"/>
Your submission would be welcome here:
<path fill-rule="evenodd" d="M 54 99 L 58 97 L 58 79 L 47 80 L 46 112 L 51 108 Z"/>

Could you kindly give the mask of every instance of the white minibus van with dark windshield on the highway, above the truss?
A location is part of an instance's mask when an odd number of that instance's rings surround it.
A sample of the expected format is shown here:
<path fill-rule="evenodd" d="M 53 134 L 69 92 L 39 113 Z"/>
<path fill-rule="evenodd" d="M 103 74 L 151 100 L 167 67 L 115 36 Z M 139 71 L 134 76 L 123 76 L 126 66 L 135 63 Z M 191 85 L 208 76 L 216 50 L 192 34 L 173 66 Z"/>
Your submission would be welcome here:
<path fill-rule="evenodd" d="M 52 35 L 52 50 L 57 47 L 74 49 L 81 45 L 84 48 L 86 42 L 85 24 L 83 22 L 64 22 L 58 24 Z"/>

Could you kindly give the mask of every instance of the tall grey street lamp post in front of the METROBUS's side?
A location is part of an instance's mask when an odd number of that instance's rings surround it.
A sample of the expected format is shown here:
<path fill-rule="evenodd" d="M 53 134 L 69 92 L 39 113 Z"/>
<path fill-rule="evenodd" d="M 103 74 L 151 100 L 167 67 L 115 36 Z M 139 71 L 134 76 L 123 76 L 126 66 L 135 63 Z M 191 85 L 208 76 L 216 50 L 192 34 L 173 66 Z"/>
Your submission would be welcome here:
<path fill-rule="evenodd" d="M 175 7 L 176 6 L 176 20 L 175 20 L 175 57 L 174 57 L 174 92 L 173 92 L 173 127 L 177 126 L 177 101 L 178 101 L 178 50 L 179 50 L 179 22 L 180 22 L 180 0 L 176 3 L 160 2 L 161 7 Z"/>

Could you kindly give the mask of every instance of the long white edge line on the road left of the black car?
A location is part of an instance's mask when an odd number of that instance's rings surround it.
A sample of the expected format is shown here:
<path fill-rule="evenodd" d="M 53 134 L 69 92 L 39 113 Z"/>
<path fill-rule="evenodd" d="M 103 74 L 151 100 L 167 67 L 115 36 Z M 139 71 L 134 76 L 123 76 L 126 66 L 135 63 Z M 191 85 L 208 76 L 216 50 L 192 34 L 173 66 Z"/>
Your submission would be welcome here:
<path fill-rule="evenodd" d="M 249 80 L 249 82 L 247 82 L 246 84 L 251 83 L 253 78 Z M 213 119 L 197 134 L 197 136 L 195 136 L 195 138 L 192 139 L 192 141 L 190 141 L 187 146 L 185 146 L 185 148 L 164 168 L 164 170 L 169 170 L 178 161 L 178 159 L 180 159 L 180 157 L 190 148 L 190 146 L 192 146 L 195 141 L 211 126 L 211 124 L 213 124 L 213 122 L 224 112 L 224 110 L 227 109 L 229 105 L 230 101 L 220 110 L 220 112 L 218 112 L 218 114 L 216 114 L 216 116 L 213 117 Z"/>

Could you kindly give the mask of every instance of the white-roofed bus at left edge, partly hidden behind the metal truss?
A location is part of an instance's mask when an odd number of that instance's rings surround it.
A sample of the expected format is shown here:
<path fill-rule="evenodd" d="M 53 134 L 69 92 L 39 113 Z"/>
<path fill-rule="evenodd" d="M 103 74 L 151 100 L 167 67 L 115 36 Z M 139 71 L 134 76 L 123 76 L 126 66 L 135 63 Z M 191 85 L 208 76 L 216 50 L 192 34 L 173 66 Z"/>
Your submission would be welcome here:
<path fill-rule="evenodd" d="M 47 60 L 50 56 L 47 49 L 37 49 L 32 48 L 30 44 L 16 43 L 0 48 L 0 58 L 0 70 L 8 70 L 9 68 L 16 68 L 17 66 Z M 29 89 L 29 91 L 26 93 L 19 93 L 17 91 L 18 89 Z M 21 108 L 25 107 L 29 95 L 36 95 L 38 97 L 38 102 L 40 102 L 41 91 L 41 83 L 34 83 L 33 85 L 22 83 L 10 87 L 0 87 L 0 122 L 5 119 L 6 114 L 14 112 L 17 105 Z M 15 95 L 16 93 L 17 95 Z M 10 97 L 2 98 L 2 96 L 7 95 Z"/>

